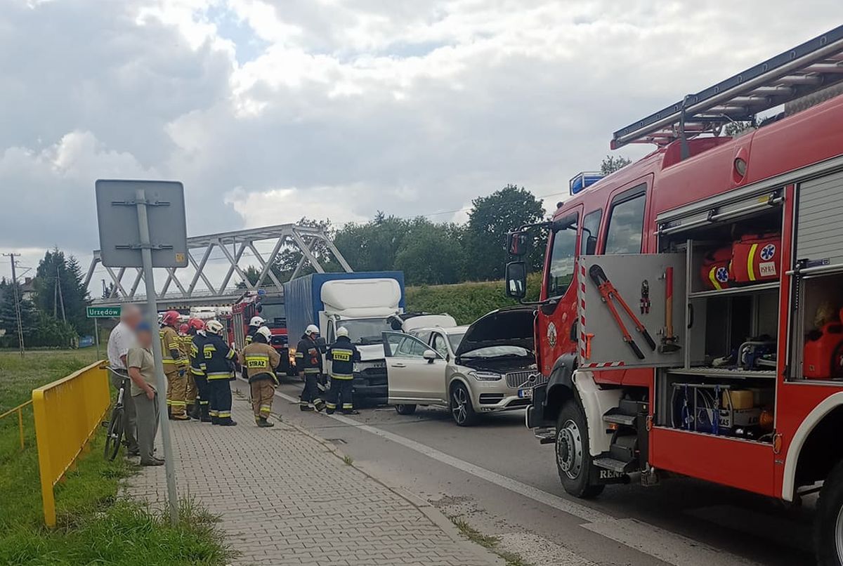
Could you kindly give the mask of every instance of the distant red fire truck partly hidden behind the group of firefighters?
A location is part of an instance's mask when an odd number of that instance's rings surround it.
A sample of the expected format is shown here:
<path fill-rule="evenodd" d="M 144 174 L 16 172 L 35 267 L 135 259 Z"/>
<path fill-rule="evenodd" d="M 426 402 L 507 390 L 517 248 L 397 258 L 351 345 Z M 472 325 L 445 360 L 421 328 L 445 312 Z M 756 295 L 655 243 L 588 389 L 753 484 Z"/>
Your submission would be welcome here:
<path fill-rule="evenodd" d="M 252 317 L 260 316 L 266 320 L 266 327 L 272 333 L 271 346 L 281 355 L 279 373 L 296 375 L 295 366 L 290 360 L 290 347 L 287 339 L 287 311 L 284 297 L 266 291 L 246 291 L 231 307 L 228 323 L 228 340 L 238 350 L 245 346 L 246 334 L 249 334 L 249 322 Z"/>

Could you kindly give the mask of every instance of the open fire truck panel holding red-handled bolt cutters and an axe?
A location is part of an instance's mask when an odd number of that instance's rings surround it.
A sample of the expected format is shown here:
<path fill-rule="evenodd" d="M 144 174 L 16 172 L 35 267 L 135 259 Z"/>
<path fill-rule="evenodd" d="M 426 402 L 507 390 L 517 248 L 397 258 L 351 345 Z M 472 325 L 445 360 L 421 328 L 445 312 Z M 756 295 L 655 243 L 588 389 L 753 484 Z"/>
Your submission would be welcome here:
<path fill-rule="evenodd" d="M 682 366 L 685 254 L 578 259 L 581 368 Z"/>

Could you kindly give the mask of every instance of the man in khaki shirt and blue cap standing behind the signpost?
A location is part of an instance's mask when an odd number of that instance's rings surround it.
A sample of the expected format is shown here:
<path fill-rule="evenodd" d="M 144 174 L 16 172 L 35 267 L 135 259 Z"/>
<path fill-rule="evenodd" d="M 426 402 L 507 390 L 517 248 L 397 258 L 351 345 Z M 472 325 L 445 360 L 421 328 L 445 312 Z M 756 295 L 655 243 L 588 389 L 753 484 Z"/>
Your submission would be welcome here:
<path fill-rule="evenodd" d="M 137 408 L 137 445 L 141 466 L 161 466 L 156 458 L 155 435 L 158 434 L 158 392 L 155 390 L 153 329 L 148 323 L 137 325 L 137 346 L 129 350 L 129 376 L 132 376 L 132 399 Z"/>

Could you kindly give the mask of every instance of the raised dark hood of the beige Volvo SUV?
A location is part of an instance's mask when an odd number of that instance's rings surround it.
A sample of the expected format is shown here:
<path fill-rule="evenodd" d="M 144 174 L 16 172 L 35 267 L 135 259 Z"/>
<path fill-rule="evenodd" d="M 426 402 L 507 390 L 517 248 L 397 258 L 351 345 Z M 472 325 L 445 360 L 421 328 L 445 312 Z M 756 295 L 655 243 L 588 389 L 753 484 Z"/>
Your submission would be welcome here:
<path fill-rule="evenodd" d="M 534 319 L 533 307 L 502 308 L 489 312 L 465 331 L 454 354 L 459 357 L 489 346 L 520 346 L 532 352 L 535 347 Z"/>

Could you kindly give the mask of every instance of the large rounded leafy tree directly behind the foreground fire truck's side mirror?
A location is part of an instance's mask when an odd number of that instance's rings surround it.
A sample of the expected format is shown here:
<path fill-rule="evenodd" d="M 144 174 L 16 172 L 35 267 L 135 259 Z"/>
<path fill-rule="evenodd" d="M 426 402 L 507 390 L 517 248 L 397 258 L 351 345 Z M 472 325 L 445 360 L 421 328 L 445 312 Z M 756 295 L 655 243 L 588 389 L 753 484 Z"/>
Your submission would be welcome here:
<path fill-rule="evenodd" d="M 470 280 L 493 280 L 503 277 L 507 262 L 507 232 L 545 216 L 545 207 L 540 199 L 524 187 L 507 184 L 491 195 L 471 201 L 469 222 L 465 228 L 465 245 L 468 254 L 464 275 Z M 544 249 L 538 245 L 537 233 L 533 249 L 527 257 L 529 265 L 540 269 Z"/>

